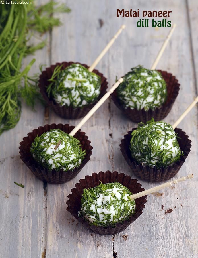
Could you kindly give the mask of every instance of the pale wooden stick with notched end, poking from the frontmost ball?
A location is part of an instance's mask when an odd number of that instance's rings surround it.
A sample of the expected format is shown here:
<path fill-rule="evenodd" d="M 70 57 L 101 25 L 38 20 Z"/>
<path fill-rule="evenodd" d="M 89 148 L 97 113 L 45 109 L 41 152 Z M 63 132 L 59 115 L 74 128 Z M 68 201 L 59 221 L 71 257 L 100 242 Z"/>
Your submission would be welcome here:
<path fill-rule="evenodd" d="M 170 182 L 167 182 L 167 183 L 164 183 L 164 184 L 155 186 L 155 187 L 153 187 L 153 188 L 150 188 L 150 189 L 148 189 L 148 190 L 139 192 L 139 193 L 137 193 L 137 194 L 133 194 L 133 195 L 130 196 L 130 198 L 131 198 L 131 200 L 135 200 L 135 199 L 140 198 L 140 197 L 142 197 L 142 196 L 145 196 L 145 195 L 147 195 L 147 194 L 152 194 L 152 193 L 154 193 L 154 192 L 157 192 L 157 191 L 159 191 L 159 190 L 161 190 L 161 189 L 163 189 L 163 188 L 166 188 L 166 187 L 168 187 L 168 186 L 172 186 L 172 185 L 174 185 L 174 184 L 178 184 L 179 182 L 184 182 L 185 180 L 191 179 L 191 178 L 193 178 L 193 177 L 194 177 L 193 174 L 189 174 L 189 175 L 183 176 L 183 177 L 181 177 L 181 178 L 179 178 L 179 179 L 175 179 L 175 180 L 173 180 L 173 181 L 170 181 Z"/>

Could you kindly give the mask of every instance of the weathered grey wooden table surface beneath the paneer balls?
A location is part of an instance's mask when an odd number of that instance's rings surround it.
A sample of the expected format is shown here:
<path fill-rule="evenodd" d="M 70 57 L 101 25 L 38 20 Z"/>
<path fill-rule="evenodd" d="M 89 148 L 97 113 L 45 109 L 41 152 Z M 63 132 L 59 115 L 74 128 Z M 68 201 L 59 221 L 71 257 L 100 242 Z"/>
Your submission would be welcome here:
<path fill-rule="evenodd" d="M 169 31 L 169 28 L 137 28 L 137 18 L 117 18 L 117 9 L 172 11 L 170 20 L 178 26 L 158 68 L 174 74 L 181 84 L 174 106 L 165 119 L 173 123 L 197 95 L 197 1 L 68 0 L 67 4 L 72 12 L 60 14 L 63 26 L 43 36 L 48 45 L 36 53 L 32 74 L 39 71 L 39 64 L 49 66 L 72 60 L 90 65 L 125 23 L 125 31 L 96 67 L 108 78 L 109 86 L 115 82 L 116 75 L 125 74 L 131 67 L 143 64 L 149 68 Z M 37 38 L 32 41 L 39 42 Z M 32 58 L 29 56 L 25 64 Z M 193 173 L 194 179 L 160 194 L 151 194 L 143 214 L 131 226 L 117 235 L 102 236 L 86 231 L 66 211 L 67 195 L 80 178 L 92 172 L 117 170 L 134 177 L 119 144 L 123 135 L 136 124 L 123 117 L 114 103 L 107 100 L 82 128 L 93 146 L 91 160 L 66 184 L 46 185 L 20 160 L 19 142 L 40 125 L 77 125 L 79 121 L 61 119 L 53 111 L 47 118 L 40 104 L 36 106 L 36 112 L 23 105 L 18 125 L 0 137 L 0 257 L 198 257 L 197 115 L 195 107 L 179 125 L 192 140 L 192 147 L 176 176 Z M 25 188 L 18 187 L 14 181 L 24 184 Z M 157 185 L 139 182 L 146 189 Z M 170 208 L 172 213 L 165 215 Z"/>

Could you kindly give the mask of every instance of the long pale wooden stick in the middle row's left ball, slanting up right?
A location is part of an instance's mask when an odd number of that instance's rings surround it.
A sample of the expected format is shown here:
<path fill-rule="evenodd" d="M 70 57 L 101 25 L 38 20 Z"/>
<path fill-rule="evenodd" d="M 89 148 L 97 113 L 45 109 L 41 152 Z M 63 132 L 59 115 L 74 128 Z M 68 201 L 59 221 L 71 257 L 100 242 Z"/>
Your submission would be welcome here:
<path fill-rule="evenodd" d="M 86 121 L 96 112 L 96 110 L 104 103 L 106 99 L 110 96 L 111 93 L 123 82 L 123 78 L 119 78 L 117 82 L 108 90 L 106 94 L 96 103 L 96 105 L 86 114 L 86 116 L 81 120 L 81 122 L 69 133 L 71 136 L 74 136 L 75 133 L 86 123 Z"/>

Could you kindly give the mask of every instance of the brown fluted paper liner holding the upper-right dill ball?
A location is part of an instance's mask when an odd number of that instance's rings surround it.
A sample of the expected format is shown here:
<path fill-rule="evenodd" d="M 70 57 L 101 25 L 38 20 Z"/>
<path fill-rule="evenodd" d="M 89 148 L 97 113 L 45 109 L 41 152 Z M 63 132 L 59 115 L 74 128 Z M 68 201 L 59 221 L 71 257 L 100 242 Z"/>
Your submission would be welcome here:
<path fill-rule="evenodd" d="M 125 108 L 118 99 L 116 90 L 114 90 L 114 92 L 111 94 L 114 104 L 124 113 L 126 117 L 131 119 L 131 121 L 135 123 L 146 123 L 152 117 L 155 121 L 160 121 L 164 119 L 164 117 L 166 117 L 170 112 L 172 105 L 175 102 L 176 97 L 178 96 L 180 84 L 178 83 L 178 80 L 175 78 L 175 76 L 173 76 L 172 74 L 161 70 L 158 70 L 158 72 L 162 74 L 162 77 L 166 81 L 168 92 L 166 103 L 161 107 L 156 107 L 154 110 L 149 109 L 148 111 L 145 111 L 144 108 L 141 110 L 137 110 L 136 108 L 131 109 L 130 107 Z"/>

